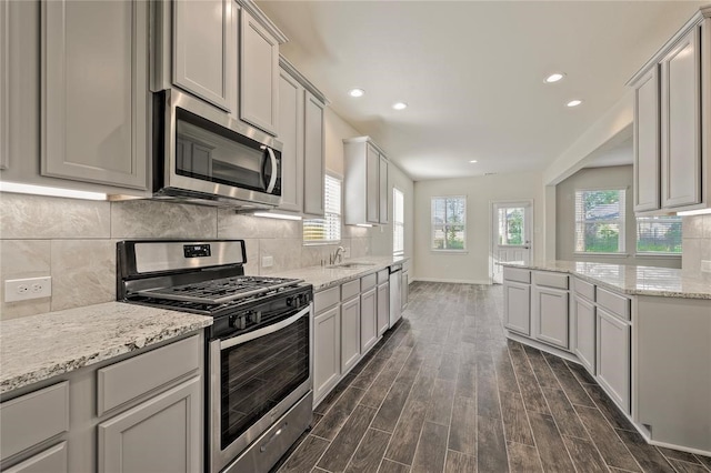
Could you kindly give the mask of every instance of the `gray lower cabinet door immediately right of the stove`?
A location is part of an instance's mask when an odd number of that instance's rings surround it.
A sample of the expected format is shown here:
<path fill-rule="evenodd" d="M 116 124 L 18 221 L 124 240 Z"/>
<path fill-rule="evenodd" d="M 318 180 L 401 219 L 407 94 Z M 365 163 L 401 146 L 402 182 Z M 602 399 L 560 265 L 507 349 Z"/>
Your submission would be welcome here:
<path fill-rule="evenodd" d="M 341 375 L 341 309 L 334 306 L 313 319 L 313 400 L 319 401 Z"/>

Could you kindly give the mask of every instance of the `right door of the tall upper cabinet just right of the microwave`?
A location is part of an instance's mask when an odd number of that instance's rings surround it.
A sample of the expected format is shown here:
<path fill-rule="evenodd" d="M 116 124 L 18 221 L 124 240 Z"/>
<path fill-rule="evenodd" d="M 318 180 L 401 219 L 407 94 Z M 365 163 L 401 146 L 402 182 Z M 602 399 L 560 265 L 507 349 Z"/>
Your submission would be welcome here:
<path fill-rule="evenodd" d="M 326 174 L 323 103 L 304 91 L 303 213 L 323 217 Z"/>

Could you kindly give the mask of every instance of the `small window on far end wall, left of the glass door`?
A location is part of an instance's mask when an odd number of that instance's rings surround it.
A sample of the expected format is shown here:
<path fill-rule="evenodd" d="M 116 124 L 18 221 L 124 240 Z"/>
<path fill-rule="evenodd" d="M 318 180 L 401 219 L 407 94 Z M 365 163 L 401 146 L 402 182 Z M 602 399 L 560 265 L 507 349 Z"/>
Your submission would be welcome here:
<path fill-rule="evenodd" d="M 432 250 L 464 250 L 467 198 L 432 198 Z"/>

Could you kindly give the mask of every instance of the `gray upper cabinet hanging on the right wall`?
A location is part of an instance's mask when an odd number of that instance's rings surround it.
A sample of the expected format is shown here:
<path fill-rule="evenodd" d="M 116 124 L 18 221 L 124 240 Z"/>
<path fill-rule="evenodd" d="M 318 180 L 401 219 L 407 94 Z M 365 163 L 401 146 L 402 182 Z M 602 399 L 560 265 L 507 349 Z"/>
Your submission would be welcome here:
<path fill-rule="evenodd" d="M 711 207 L 711 7 L 628 82 L 634 88 L 634 211 Z"/>

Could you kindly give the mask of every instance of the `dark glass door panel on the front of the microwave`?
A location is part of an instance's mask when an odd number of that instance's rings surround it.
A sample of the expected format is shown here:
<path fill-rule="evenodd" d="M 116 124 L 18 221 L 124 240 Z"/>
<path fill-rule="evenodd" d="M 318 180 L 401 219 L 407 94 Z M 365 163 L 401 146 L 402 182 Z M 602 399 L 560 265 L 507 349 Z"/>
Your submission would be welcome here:
<path fill-rule="evenodd" d="M 280 194 L 279 151 L 182 109 L 178 109 L 176 131 L 177 174 Z"/>

